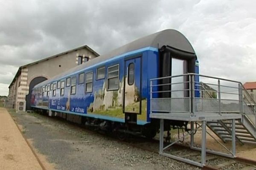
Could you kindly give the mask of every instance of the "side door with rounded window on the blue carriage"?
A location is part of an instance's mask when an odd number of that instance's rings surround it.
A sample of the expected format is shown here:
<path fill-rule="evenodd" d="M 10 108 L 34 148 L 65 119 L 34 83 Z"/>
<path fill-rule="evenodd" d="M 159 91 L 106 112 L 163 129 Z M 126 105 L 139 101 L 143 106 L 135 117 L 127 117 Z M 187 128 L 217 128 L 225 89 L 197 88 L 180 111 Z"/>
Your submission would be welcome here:
<path fill-rule="evenodd" d="M 141 58 L 125 61 L 124 112 L 141 112 Z"/>

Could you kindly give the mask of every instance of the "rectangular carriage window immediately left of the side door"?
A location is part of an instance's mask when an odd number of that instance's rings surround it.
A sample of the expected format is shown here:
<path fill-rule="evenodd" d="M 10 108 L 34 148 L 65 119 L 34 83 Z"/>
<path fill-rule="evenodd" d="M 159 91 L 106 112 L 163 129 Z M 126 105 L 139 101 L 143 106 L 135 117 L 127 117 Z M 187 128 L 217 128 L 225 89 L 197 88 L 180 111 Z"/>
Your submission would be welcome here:
<path fill-rule="evenodd" d="M 119 65 L 108 67 L 108 90 L 119 88 Z"/>

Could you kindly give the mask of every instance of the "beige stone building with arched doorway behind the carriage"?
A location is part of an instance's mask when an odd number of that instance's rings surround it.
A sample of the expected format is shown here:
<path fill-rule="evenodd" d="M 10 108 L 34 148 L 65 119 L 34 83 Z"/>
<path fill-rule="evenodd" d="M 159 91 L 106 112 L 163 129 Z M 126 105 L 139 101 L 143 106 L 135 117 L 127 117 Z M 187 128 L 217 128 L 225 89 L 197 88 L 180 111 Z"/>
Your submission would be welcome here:
<path fill-rule="evenodd" d="M 93 49 L 84 45 L 20 66 L 9 85 L 6 107 L 15 108 L 16 111 L 30 110 L 31 91 L 36 84 L 98 56 Z"/>

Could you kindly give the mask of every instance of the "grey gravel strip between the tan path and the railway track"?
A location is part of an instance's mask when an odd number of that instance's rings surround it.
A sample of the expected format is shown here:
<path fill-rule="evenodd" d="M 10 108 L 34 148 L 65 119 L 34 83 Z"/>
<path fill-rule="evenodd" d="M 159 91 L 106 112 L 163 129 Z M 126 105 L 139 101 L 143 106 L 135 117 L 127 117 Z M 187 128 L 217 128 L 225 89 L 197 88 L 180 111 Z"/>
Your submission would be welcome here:
<path fill-rule="evenodd" d="M 36 113 L 10 112 L 39 153 L 60 170 L 199 170 Z"/>

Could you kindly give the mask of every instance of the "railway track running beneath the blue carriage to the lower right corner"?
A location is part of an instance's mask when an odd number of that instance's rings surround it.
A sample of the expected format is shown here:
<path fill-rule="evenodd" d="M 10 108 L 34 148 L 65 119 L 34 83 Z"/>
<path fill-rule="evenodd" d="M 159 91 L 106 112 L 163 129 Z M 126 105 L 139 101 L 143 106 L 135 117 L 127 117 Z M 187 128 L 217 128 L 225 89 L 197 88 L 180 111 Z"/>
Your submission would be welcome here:
<path fill-rule="evenodd" d="M 62 122 L 68 122 L 63 118 L 53 117 L 54 119 Z M 146 150 L 148 152 L 157 153 L 159 152 L 159 140 L 157 139 L 146 139 L 142 136 L 128 135 L 125 141 L 120 141 L 113 133 L 105 133 L 103 131 L 92 130 L 85 125 L 78 125 L 73 122 L 68 122 L 69 125 L 80 127 L 86 132 L 91 134 L 97 134 L 104 136 L 108 139 L 115 140 L 126 144 L 130 147 L 135 147 L 141 150 Z M 169 143 L 165 143 L 168 145 Z M 186 159 L 191 159 L 194 161 L 201 161 L 201 152 L 197 150 L 190 149 L 189 146 L 183 144 L 174 144 L 167 153 L 176 156 L 182 156 Z M 236 157 L 235 159 L 229 159 L 227 157 L 217 156 L 207 153 L 206 165 L 202 168 L 203 170 L 256 170 L 256 161 L 249 160 L 241 157 Z"/>

